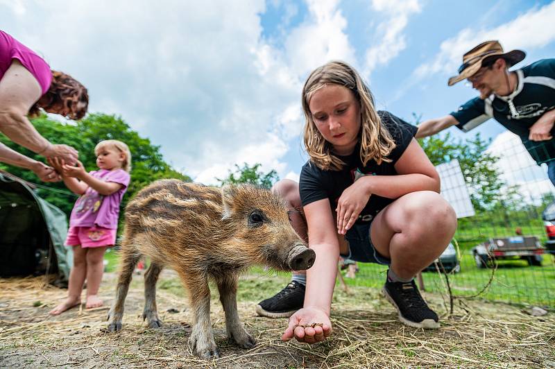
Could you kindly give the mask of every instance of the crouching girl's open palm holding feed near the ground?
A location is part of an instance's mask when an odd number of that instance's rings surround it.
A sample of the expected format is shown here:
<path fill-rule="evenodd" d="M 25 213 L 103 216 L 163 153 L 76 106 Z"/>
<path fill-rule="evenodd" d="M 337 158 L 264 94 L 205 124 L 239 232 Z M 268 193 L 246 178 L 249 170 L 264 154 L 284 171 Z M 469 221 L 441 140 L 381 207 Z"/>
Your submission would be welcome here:
<path fill-rule="evenodd" d="M 282 341 L 289 341 L 294 336 L 299 342 L 316 343 L 324 341 L 331 333 L 332 322 L 325 311 L 305 307 L 289 318 L 289 327 L 285 329 Z"/>

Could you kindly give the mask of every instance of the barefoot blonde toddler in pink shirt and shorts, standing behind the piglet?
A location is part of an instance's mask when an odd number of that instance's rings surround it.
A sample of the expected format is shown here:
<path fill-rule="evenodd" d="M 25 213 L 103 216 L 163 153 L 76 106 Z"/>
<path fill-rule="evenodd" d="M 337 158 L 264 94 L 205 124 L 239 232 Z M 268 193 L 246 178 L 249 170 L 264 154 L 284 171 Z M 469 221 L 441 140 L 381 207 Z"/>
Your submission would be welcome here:
<path fill-rule="evenodd" d="M 71 211 L 67 231 L 66 246 L 74 248 L 67 298 L 50 311 L 51 315 L 80 304 L 85 280 L 87 309 L 103 304 L 98 292 L 104 252 L 116 241 L 119 204 L 130 181 L 131 154 L 126 144 L 114 139 L 101 141 L 94 152 L 99 170 L 89 173 L 81 162 L 71 166 L 51 160 L 56 171 L 62 173 L 67 188 L 80 195 Z"/>

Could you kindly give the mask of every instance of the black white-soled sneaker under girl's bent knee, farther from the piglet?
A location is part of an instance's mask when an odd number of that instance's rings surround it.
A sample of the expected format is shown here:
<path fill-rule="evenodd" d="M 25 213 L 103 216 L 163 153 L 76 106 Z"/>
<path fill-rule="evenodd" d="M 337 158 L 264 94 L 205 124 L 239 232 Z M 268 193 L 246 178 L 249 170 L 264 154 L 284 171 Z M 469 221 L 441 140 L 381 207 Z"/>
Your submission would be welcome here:
<path fill-rule="evenodd" d="M 415 328 L 439 328 L 439 318 L 428 307 L 414 280 L 411 282 L 387 281 L 382 290 L 386 299 L 399 311 L 399 320 Z"/>

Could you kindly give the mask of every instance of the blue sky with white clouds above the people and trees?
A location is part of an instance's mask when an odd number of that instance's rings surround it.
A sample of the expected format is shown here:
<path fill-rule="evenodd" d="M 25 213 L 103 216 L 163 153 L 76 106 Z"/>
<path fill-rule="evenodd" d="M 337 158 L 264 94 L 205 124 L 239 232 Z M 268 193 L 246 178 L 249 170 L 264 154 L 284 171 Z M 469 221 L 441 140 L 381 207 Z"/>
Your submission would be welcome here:
<path fill-rule="evenodd" d="M 329 60 L 357 67 L 378 108 L 429 119 L 476 95 L 447 87 L 466 50 L 497 39 L 527 51 L 522 66 L 552 58 L 554 19 L 535 0 L 0 0 L 0 28 L 80 80 L 90 111 L 205 183 L 243 162 L 298 178 L 302 83 Z"/>

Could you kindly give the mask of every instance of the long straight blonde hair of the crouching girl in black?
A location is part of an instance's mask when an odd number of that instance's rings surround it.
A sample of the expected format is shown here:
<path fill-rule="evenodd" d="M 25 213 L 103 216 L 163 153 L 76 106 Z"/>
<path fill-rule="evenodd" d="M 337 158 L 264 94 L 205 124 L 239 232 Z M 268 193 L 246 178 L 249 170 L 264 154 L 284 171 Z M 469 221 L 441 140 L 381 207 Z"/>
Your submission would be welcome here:
<path fill-rule="evenodd" d="M 391 162 L 388 155 L 395 148 L 395 141 L 374 108 L 374 98 L 357 71 L 345 62 L 328 62 L 312 71 L 302 87 L 302 110 L 305 112 L 304 140 L 311 161 L 322 170 L 339 171 L 345 163 L 332 153 L 332 145 L 322 137 L 309 109 L 310 98 L 325 85 L 340 85 L 351 90 L 360 104 L 361 128 L 359 131 L 360 159 L 366 165 L 370 160 L 377 164 Z"/>

